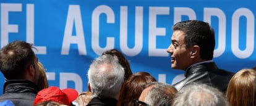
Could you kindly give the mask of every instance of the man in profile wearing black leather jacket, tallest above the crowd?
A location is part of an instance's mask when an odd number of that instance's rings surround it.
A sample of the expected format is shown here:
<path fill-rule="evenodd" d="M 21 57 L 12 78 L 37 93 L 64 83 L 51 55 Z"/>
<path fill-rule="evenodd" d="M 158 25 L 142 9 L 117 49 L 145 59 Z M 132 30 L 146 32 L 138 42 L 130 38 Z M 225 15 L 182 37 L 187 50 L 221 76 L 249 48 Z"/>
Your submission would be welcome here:
<path fill-rule="evenodd" d="M 191 82 L 207 83 L 226 92 L 234 73 L 221 70 L 213 62 L 215 32 L 206 22 L 187 20 L 173 26 L 173 36 L 167 52 L 171 68 L 185 71 L 185 79 L 174 84 L 180 91 Z"/>

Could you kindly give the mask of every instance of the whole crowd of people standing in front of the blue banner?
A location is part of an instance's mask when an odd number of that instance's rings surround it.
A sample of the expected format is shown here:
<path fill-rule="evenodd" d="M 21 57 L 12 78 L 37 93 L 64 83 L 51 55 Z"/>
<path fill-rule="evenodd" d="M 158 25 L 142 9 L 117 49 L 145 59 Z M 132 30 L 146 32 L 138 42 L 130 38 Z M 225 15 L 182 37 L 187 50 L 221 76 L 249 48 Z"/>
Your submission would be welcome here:
<path fill-rule="evenodd" d="M 14 41 L 0 51 L 0 70 L 6 78 L 0 105 L 9 106 L 254 106 L 256 68 L 237 73 L 213 62 L 215 32 L 200 20 L 173 26 L 171 68 L 184 70 L 186 78 L 166 84 L 145 71 L 132 73 L 117 49 L 103 52 L 88 69 L 88 91 L 49 86 L 43 64 L 32 44 Z"/>

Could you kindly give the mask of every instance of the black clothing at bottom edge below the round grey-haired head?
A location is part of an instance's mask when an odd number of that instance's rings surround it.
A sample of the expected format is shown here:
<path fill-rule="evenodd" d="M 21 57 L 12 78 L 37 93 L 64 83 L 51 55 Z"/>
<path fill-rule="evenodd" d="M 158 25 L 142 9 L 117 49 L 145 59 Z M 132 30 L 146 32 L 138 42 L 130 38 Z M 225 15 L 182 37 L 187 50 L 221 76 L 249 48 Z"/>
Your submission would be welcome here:
<path fill-rule="evenodd" d="M 94 97 L 87 106 L 115 106 L 117 104 L 116 99 L 108 98 L 108 99 L 100 99 L 99 97 Z"/>

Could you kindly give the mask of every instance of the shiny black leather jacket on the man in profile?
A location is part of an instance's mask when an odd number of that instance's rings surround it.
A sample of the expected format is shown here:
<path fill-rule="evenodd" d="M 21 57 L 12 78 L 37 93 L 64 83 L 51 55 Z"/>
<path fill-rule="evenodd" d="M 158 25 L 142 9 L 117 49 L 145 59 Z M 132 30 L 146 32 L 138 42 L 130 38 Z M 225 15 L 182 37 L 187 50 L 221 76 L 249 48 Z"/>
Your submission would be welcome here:
<path fill-rule="evenodd" d="M 185 79 L 174 84 L 174 87 L 180 91 L 189 83 L 205 83 L 218 88 L 225 93 L 228 88 L 229 80 L 234 73 L 219 69 L 215 62 L 201 63 L 189 67 L 185 72 Z"/>

